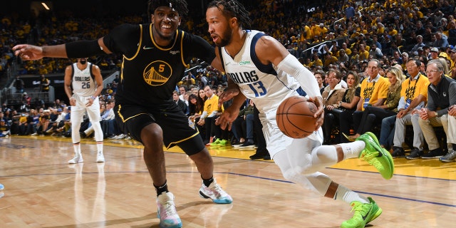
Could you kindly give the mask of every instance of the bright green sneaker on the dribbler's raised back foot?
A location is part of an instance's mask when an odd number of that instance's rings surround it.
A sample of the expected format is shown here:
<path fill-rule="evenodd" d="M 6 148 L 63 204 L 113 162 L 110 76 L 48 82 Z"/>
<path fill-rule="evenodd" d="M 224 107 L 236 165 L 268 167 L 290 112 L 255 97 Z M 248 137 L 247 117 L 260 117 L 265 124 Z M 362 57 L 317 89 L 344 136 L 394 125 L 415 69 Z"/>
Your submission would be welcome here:
<path fill-rule="evenodd" d="M 386 180 L 391 179 L 394 174 L 394 162 L 390 152 L 380 147 L 377 137 L 373 133 L 367 132 L 356 138 L 366 143 L 366 147 L 360 153 L 366 162 L 373 165 Z"/>

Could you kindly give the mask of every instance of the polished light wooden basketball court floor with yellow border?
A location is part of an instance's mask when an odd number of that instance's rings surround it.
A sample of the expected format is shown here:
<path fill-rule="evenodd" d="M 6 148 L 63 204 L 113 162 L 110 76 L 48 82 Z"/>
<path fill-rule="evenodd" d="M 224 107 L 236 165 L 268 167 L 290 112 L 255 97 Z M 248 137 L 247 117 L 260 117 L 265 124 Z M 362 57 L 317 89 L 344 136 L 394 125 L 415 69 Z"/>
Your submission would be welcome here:
<path fill-rule="evenodd" d="M 69 138 L 0 138 L 0 227 L 158 227 L 152 180 L 133 140 L 105 140 L 105 163 L 93 140 L 83 140 L 84 162 Z M 254 149 L 209 148 L 217 182 L 233 197 L 214 204 L 198 195 L 199 172 L 179 148 L 165 152 L 169 190 L 183 227 L 340 227 L 349 204 L 320 197 L 284 180 L 272 161 L 249 160 Z M 373 197 L 383 214 L 368 227 L 455 227 L 456 162 L 395 159 L 383 178 L 362 160 L 322 172 Z"/>

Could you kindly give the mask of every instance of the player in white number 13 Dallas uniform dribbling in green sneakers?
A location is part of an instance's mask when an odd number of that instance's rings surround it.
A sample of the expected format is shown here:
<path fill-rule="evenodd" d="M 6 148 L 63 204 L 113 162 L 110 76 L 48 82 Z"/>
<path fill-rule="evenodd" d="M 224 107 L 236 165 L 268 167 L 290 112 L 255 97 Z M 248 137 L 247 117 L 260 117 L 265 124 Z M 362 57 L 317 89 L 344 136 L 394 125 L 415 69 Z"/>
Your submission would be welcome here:
<path fill-rule="evenodd" d="M 232 105 L 224 110 L 217 124 L 223 129 L 230 128 L 229 123 L 237 118 L 245 99 L 252 99 L 264 126 L 267 149 L 286 180 L 321 196 L 351 204 L 355 214 L 341 224 L 343 228 L 365 227 L 378 217 L 382 210 L 371 197 L 338 185 L 319 172 L 344 159 L 363 157 L 385 179 L 390 179 L 393 159 L 380 147 L 375 135 L 366 133 L 355 142 L 321 145 L 323 103 L 315 76 L 275 38 L 259 31 L 244 30 L 243 26 L 250 22 L 249 12 L 237 0 L 212 1 L 207 7 L 206 20 L 212 41 L 218 47 L 217 58 L 224 67 L 220 70 L 229 76 L 229 88 L 220 96 L 219 103 L 233 98 Z M 318 107 L 315 132 L 307 138 L 289 138 L 277 127 L 276 110 L 282 100 L 304 95 L 303 90 Z"/>

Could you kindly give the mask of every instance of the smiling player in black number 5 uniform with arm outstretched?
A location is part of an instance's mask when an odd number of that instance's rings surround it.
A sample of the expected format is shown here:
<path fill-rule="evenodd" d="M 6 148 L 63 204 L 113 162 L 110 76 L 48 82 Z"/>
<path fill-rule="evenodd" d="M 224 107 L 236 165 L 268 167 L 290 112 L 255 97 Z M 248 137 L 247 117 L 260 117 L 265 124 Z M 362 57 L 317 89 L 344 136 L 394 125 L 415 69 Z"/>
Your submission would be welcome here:
<path fill-rule="evenodd" d="M 150 0 L 151 24 L 123 24 L 94 41 L 56 46 L 20 44 L 13 48 L 16 56 L 24 60 L 123 55 L 115 118 L 120 128 L 144 145 L 145 164 L 157 190 L 160 227 L 182 227 L 174 196 L 167 190 L 163 142 L 167 148 L 178 145 L 195 162 L 203 182 L 199 189 L 201 197 L 220 204 L 232 202 L 232 197 L 213 177 L 212 157 L 202 138 L 172 101 L 172 91 L 191 58 L 201 58 L 222 68 L 207 41 L 178 29 L 181 16 L 187 12 L 184 0 Z"/>

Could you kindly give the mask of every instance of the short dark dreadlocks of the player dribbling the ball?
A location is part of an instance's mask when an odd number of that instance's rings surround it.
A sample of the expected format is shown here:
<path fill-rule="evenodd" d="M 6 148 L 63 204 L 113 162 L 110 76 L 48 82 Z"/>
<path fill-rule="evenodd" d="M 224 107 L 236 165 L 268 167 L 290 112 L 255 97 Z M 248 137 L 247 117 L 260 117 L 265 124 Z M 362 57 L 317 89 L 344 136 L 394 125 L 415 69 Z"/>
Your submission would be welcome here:
<path fill-rule="evenodd" d="M 248 28 L 252 22 L 249 18 L 249 11 L 237 0 L 214 0 L 207 6 L 208 9 L 211 7 L 217 7 L 229 18 L 236 17 L 241 28 Z"/>

